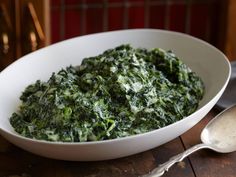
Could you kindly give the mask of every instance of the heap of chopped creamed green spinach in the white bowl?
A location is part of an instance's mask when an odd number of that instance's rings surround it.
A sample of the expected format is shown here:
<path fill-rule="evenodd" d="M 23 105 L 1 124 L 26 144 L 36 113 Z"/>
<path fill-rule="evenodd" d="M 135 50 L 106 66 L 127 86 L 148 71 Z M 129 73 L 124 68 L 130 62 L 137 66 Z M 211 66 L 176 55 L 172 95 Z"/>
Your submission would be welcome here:
<path fill-rule="evenodd" d="M 29 85 L 10 123 L 41 140 L 113 139 L 183 119 L 203 93 L 201 79 L 171 51 L 121 45 Z"/>

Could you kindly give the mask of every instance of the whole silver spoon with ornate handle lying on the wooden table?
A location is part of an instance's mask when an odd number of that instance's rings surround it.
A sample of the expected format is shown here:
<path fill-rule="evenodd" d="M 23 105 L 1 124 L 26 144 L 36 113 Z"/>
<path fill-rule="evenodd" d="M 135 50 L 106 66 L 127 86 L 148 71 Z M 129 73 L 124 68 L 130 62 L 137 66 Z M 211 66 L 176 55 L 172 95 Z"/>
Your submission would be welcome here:
<path fill-rule="evenodd" d="M 236 105 L 224 110 L 212 119 L 201 133 L 203 143 L 197 144 L 186 151 L 173 156 L 169 161 L 159 165 L 142 177 L 159 177 L 175 163 L 182 161 L 193 152 L 209 148 L 216 152 L 229 153 L 236 151 Z"/>

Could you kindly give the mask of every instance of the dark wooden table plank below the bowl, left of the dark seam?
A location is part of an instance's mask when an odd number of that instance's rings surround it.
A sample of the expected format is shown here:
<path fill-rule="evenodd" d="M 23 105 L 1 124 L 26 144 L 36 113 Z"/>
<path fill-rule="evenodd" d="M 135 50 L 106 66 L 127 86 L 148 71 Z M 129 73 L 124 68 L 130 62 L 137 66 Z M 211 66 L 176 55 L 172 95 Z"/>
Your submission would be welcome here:
<path fill-rule="evenodd" d="M 68 162 L 28 153 L 0 137 L 0 176 L 6 177 L 137 177 L 184 150 L 180 138 L 153 150 L 100 162 Z M 188 159 L 163 177 L 193 177 Z"/>

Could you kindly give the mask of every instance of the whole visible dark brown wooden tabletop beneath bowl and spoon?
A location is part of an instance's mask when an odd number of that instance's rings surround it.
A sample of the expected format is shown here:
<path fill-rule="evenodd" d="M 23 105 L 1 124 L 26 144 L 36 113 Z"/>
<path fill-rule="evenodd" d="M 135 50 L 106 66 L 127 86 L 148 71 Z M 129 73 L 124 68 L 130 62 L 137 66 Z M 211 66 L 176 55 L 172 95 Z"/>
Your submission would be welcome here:
<path fill-rule="evenodd" d="M 0 138 L 0 177 L 138 177 L 171 156 L 200 142 L 200 132 L 216 115 L 213 109 L 181 137 L 126 158 L 100 162 L 68 162 L 28 153 Z M 163 177 L 235 177 L 236 153 L 201 150 L 172 167 Z"/>

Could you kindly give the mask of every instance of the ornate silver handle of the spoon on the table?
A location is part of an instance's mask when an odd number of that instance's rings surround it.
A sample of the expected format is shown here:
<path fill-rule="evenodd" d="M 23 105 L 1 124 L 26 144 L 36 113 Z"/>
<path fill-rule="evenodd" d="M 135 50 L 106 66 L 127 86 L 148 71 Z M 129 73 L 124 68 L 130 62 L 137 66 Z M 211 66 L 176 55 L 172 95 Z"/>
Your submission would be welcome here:
<path fill-rule="evenodd" d="M 192 154 L 193 152 L 203 149 L 203 148 L 209 148 L 206 144 L 197 144 L 186 151 L 177 154 L 170 158 L 167 162 L 160 164 L 157 168 L 152 170 L 149 174 L 143 175 L 142 177 L 159 177 L 162 176 L 165 171 L 168 171 L 171 166 L 173 166 L 175 163 L 182 161 L 185 157 Z"/>

